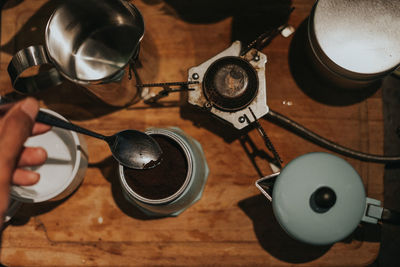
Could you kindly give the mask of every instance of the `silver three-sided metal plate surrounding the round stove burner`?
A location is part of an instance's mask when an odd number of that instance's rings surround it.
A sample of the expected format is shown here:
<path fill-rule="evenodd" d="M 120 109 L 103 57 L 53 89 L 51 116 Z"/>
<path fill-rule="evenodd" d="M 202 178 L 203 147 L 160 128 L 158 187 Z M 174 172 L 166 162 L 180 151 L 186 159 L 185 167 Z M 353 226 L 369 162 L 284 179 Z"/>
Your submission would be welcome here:
<path fill-rule="evenodd" d="M 193 88 L 194 90 L 189 92 L 189 103 L 195 106 L 208 109 L 212 114 L 231 123 L 237 129 L 242 129 L 248 125 L 246 123 L 243 123 L 244 122 L 243 119 L 240 119 L 244 115 L 246 115 L 251 122 L 254 121 L 254 118 L 248 108 L 251 108 L 251 110 L 253 110 L 255 117 L 257 119 L 261 118 L 269 111 L 269 108 L 267 106 L 267 89 L 265 83 L 265 64 L 267 62 L 267 56 L 255 49 L 251 49 L 245 55 L 240 57 L 241 51 L 242 51 L 242 45 L 239 41 L 236 41 L 228 49 L 222 51 L 221 53 L 217 54 L 216 56 L 212 57 L 206 62 L 200 64 L 199 66 L 192 67 L 191 69 L 189 69 L 188 73 L 188 81 L 200 82 L 199 84 L 191 85 L 191 88 Z M 258 61 L 253 60 L 255 56 L 259 57 Z M 251 101 L 251 103 L 246 105 L 241 110 L 226 111 L 217 108 L 216 106 L 214 106 L 212 103 L 209 102 L 206 95 L 204 94 L 203 83 L 207 70 L 214 62 L 225 57 L 237 57 L 246 60 L 254 68 L 256 72 L 256 76 L 258 79 L 257 94 Z M 241 93 L 243 93 L 242 91 L 239 90 L 238 92 L 236 92 L 235 90 L 232 91 L 232 89 L 243 88 L 243 86 L 247 81 L 244 78 L 245 76 L 242 75 L 241 79 L 232 79 L 232 75 L 230 74 L 230 72 L 227 72 L 226 69 L 227 68 L 221 71 L 220 76 L 223 76 L 223 79 L 222 80 L 219 79 L 219 81 L 220 82 L 222 81 L 223 83 L 228 84 L 230 86 L 223 86 L 223 88 L 226 88 L 226 90 L 220 92 L 220 94 L 226 96 L 226 98 L 234 97 L 237 96 L 238 94 L 240 95 Z M 226 75 L 227 73 L 229 75 Z M 237 76 L 237 73 L 243 74 L 243 71 L 240 71 L 239 69 L 239 71 L 235 71 L 235 73 L 236 74 L 234 76 Z"/>

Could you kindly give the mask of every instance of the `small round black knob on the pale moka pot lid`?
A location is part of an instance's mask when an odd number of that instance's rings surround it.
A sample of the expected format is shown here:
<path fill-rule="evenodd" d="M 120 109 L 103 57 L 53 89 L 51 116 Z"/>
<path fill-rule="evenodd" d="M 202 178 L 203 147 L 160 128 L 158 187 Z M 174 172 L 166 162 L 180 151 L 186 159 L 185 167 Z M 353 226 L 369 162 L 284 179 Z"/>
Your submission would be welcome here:
<path fill-rule="evenodd" d="M 318 213 L 327 212 L 336 203 L 335 191 L 330 187 L 320 187 L 311 195 L 310 206 Z"/>

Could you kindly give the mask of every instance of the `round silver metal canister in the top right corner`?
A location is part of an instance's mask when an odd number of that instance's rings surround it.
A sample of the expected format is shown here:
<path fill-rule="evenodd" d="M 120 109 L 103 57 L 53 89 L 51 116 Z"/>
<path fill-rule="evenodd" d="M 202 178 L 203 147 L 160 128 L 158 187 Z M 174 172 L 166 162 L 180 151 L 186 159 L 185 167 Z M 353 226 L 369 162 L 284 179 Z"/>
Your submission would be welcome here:
<path fill-rule="evenodd" d="M 309 20 L 309 41 L 333 75 L 368 85 L 400 64 L 400 1 L 319 0 Z"/>

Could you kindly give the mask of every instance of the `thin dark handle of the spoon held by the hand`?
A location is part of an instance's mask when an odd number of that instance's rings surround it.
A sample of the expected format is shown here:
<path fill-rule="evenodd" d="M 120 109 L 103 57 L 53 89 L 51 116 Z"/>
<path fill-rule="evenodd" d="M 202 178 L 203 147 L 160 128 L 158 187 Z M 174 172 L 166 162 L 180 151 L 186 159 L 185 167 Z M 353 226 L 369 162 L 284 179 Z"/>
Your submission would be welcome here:
<path fill-rule="evenodd" d="M 39 111 L 37 117 L 36 117 L 36 121 L 37 122 L 41 122 L 50 126 L 55 126 L 55 127 L 59 127 L 59 128 L 63 128 L 66 130 L 71 130 L 74 132 L 78 132 L 78 133 L 82 133 L 82 134 L 86 134 L 95 138 L 99 138 L 102 140 L 106 139 L 106 136 L 89 131 L 85 128 L 82 128 L 78 125 L 75 125 L 73 123 L 64 121 L 60 118 L 57 118 L 56 116 L 53 116 L 49 113 L 43 112 L 43 111 Z"/>

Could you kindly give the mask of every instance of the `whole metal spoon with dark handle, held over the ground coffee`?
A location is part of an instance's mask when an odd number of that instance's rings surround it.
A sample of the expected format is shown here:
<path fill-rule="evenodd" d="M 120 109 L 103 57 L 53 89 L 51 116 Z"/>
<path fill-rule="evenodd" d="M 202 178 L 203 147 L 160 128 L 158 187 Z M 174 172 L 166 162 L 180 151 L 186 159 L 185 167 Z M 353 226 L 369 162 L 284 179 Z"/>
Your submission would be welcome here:
<path fill-rule="evenodd" d="M 106 141 L 113 157 L 128 168 L 150 169 L 161 162 L 162 150 L 160 146 L 153 138 L 143 132 L 125 130 L 111 136 L 104 136 L 43 111 L 39 111 L 36 121 Z"/>

